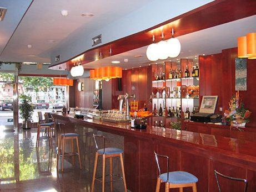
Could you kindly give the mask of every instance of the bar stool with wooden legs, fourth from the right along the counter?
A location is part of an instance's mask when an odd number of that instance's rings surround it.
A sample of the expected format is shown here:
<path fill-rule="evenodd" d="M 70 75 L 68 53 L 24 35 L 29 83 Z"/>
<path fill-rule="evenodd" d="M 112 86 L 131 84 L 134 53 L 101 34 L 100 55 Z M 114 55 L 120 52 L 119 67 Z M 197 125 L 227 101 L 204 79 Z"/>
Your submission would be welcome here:
<path fill-rule="evenodd" d="M 78 143 L 79 134 L 77 134 L 77 133 L 62 133 L 62 131 L 61 131 L 61 124 L 60 123 L 58 123 L 58 127 L 59 127 L 59 133 L 61 134 L 61 136 L 59 137 L 59 142 L 58 142 L 57 170 L 58 170 L 58 163 L 59 163 L 59 158 L 60 157 L 62 158 L 61 170 L 63 172 L 64 157 L 72 157 L 72 163 L 74 165 L 74 156 L 76 156 L 76 155 L 78 155 L 80 169 L 82 169 L 81 159 L 80 159 L 80 151 L 79 151 L 79 143 Z M 73 139 L 76 139 L 76 143 L 77 143 L 77 152 L 76 153 L 74 153 Z M 70 140 L 71 141 L 72 152 L 65 153 L 66 140 Z"/>

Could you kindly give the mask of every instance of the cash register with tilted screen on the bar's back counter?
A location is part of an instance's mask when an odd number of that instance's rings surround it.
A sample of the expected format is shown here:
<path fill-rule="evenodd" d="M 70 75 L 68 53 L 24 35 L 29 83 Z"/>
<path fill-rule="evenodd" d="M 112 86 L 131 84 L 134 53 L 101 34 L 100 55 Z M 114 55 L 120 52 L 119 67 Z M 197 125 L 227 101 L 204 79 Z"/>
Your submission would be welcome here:
<path fill-rule="evenodd" d="M 218 96 L 203 96 L 199 112 L 191 115 L 190 120 L 204 123 L 211 122 L 210 117 L 214 115 L 217 101 Z"/>

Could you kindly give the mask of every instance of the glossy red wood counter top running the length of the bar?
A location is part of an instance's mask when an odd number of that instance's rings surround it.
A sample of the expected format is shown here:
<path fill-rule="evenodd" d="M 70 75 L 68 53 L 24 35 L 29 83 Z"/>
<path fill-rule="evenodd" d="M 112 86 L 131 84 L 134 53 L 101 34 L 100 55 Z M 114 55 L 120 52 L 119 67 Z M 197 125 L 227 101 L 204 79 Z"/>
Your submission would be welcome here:
<path fill-rule="evenodd" d="M 162 128 L 154 126 L 148 126 L 147 129 L 140 130 L 131 128 L 128 123 L 117 124 L 92 119 L 78 120 L 72 115 L 63 115 L 62 113 L 53 113 L 52 115 L 59 120 L 66 119 L 71 123 L 87 124 L 97 127 L 101 131 L 113 132 L 123 136 L 157 139 L 165 144 L 170 143 L 187 149 L 190 146 L 194 148 L 193 150 L 199 150 L 202 154 L 217 152 L 219 155 L 253 163 L 253 167 L 256 169 L 256 140 L 252 141 L 252 138 L 248 140 L 245 135 L 239 138 L 230 138 L 175 129 L 165 129 L 164 131 Z M 243 132 L 240 133 L 243 134 Z"/>

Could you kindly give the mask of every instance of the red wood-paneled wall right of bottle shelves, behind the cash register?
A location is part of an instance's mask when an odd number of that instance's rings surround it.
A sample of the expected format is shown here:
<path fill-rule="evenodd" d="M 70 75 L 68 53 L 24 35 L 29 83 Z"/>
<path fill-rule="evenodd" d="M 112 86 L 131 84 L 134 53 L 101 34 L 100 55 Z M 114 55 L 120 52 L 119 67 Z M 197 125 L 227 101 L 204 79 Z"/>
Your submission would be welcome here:
<path fill-rule="evenodd" d="M 228 102 L 235 94 L 235 58 L 237 48 L 222 50 L 222 53 L 199 56 L 200 100 L 203 95 L 218 95 L 216 111 L 223 113 Z M 256 60 L 247 60 L 247 91 L 240 91 L 240 97 L 246 108 L 252 111 L 248 125 L 256 126 Z M 223 111 L 219 111 L 219 107 Z"/>

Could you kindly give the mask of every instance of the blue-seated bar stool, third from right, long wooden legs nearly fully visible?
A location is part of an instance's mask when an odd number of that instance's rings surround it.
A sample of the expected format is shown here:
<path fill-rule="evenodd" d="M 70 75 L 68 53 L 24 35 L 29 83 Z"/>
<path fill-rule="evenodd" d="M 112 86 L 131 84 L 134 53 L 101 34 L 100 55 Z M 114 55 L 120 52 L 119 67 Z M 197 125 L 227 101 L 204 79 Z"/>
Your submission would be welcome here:
<path fill-rule="evenodd" d="M 98 144 L 96 141 L 95 137 L 99 137 L 99 138 L 103 138 L 103 149 L 98 149 Z M 93 134 L 93 138 L 94 138 L 94 142 L 96 145 L 96 149 L 97 152 L 95 154 L 95 160 L 94 160 L 94 168 L 93 168 L 93 179 L 92 179 L 92 188 L 91 191 L 93 192 L 94 190 L 94 181 L 98 180 L 100 182 L 102 182 L 102 191 L 105 191 L 105 177 L 108 175 L 105 175 L 105 168 L 106 168 L 106 159 L 109 158 L 109 162 L 110 162 L 110 183 L 111 183 L 111 191 L 113 191 L 113 181 L 119 181 L 119 180 L 123 180 L 124 183 L 124 191 L 127 192 L 127 187 L 126 187 L 126 176 L 124 174 L 124 164 L 123 164 L 123 150 L 122 149 L 118 149 L 118 148 L 105 148 L 105 136 L 102 135 L 96 135 Z M 97 170 L 97 163 L 98 163 L 98 157 L 102 155 L 102 180 L 99 180 L 99 178 L 95 178 L 96 177 L 96 170 Z M 122 168 L 122 174 L 123 177 L 118 177 L 118 179 L 113 180 L 113 176 L 117 176 L 112 174 L 112 158 L 113 157 L 119 157 L 120 158 L 120 162 L 121 162 L 121 168 Z"/>

